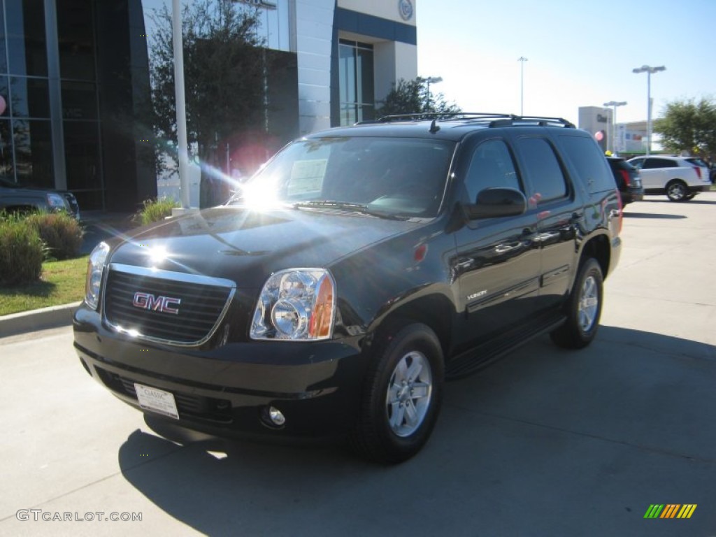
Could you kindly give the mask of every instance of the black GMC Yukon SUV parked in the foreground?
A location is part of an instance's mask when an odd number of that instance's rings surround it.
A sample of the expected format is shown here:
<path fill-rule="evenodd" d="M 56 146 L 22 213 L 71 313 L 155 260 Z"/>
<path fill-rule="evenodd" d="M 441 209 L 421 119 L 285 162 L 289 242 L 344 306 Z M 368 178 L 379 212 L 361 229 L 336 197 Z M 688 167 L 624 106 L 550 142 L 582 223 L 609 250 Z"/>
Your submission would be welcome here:
<path fill-rule="evenodd" d="M 443 380 L 597 331 L 621 205 L 558 118 L 387 117 L 296 140 L 226 205 L 100 243 L 74 347 L 144 412 L 214 435 L 415 455 Z"/>

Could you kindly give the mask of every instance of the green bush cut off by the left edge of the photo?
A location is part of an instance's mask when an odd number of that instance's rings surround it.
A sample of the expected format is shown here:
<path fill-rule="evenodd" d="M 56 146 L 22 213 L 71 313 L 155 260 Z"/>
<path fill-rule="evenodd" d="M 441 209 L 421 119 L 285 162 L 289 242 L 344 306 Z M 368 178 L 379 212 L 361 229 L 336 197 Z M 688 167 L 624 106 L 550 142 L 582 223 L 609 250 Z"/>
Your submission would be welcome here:
<path fill-rule="evenodd" d="M 0 218 L 0 285 L 29 284 L 42 274 L 44 245 L 21 218 Z"/>

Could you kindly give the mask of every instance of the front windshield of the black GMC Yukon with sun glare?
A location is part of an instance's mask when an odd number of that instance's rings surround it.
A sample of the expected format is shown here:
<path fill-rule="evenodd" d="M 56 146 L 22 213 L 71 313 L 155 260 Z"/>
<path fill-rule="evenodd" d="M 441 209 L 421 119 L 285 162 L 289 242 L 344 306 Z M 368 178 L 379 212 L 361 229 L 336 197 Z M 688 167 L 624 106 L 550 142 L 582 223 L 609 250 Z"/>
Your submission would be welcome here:
<path fill-rule="evenodd" d="M 448 140 L 324 137 L 284 148 L 230 203 L 437 215 L 455 149 Z"/>

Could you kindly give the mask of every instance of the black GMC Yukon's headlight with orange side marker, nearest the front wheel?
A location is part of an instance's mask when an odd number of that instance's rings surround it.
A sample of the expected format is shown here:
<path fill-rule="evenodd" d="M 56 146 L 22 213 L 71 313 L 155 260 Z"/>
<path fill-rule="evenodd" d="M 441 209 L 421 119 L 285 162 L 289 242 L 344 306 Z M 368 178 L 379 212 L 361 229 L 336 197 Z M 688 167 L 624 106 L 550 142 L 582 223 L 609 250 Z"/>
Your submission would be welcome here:
<path fill-rule="evenodd" d="M 290 269 L 263 285 L 251 339 L 315 341 L 331 337 L 336 285 L 325 269 Z"/>

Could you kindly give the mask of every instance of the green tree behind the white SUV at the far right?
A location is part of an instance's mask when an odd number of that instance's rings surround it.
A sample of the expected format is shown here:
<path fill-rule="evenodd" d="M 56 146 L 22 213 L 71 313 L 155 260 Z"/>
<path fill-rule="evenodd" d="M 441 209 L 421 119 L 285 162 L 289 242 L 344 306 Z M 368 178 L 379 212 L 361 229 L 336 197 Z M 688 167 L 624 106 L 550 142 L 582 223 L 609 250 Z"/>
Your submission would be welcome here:
<path fill-rule="evenodd" d="M 711 99 L 672 101 L 664 117 L 654 122 L 654 132 L 662 135 L 669 151 L 716 158 L 716 103 Z"/>

